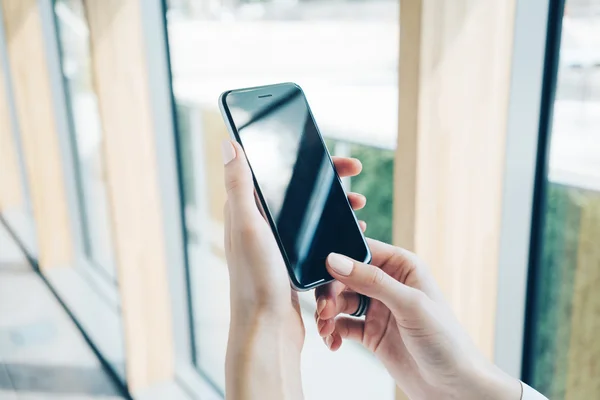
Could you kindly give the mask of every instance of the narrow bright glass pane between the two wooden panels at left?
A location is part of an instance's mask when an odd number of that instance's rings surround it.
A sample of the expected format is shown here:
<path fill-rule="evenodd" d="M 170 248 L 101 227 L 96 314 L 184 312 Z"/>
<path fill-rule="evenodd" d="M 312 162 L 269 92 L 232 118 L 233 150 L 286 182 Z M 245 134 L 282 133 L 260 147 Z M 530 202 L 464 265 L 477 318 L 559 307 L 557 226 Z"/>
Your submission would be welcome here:
<path fill-rule="evenodd" d="M 75 173 L 80 196 L 85 253 L 91 264 L 116 282 L 106 194 L 102 125 L 92 81 L 88 25 L 82 0 L 57 0 L 54 7 L 62 69 L 73 126 Z"/>

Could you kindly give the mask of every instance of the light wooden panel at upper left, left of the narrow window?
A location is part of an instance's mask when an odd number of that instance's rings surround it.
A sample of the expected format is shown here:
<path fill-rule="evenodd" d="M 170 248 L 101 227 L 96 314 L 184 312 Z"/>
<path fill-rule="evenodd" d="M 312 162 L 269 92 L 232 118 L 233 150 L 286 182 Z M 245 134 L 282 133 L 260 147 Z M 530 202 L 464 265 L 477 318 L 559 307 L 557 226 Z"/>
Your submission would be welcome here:
<path fill-rule="evenodd" d="M 2 7 L 39 264 L 68 265 L 73 246 L 39 5 L 36 0 L 2 0 Z"/>

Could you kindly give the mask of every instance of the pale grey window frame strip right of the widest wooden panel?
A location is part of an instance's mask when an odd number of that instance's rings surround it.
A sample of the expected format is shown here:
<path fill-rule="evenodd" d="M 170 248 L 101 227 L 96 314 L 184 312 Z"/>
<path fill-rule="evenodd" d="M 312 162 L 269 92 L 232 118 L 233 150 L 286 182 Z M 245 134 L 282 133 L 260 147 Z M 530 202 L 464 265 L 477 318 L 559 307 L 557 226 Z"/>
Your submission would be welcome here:
<path fill-rule="evenodd" d="M 494 361 L 521 376 L 534 184 L 541 144 L 540 102 L 550 0 L 518 0 L 513 38 L 502 224 L 498 261 Z"/>

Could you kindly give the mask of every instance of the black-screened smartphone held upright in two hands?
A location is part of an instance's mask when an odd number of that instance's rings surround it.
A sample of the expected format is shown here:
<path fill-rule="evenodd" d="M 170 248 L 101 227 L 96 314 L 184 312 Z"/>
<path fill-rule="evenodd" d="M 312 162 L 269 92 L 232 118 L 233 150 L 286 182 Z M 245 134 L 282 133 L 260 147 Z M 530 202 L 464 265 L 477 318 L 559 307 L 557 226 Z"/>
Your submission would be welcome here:
<path fill-rule="evenodd" d="M 229 90 L 219 98 L 229 133 L 246 153 L 262 212 L 296 290 L 333 280 L 331 252 L 370 262 L 304 92 L 294 83 Z"/>

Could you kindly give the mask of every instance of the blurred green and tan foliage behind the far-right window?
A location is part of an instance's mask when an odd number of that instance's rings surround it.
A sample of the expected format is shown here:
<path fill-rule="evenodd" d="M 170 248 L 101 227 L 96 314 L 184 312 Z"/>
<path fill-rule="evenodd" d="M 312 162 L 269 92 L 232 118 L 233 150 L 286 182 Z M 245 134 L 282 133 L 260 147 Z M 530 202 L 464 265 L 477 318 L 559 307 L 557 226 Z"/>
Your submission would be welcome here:
<path fill-rule="evenodd" d="M 532 309 L 536 323 L 531 383 L 548 398 L 564 399 L 569 374 L 578 373 L 578 367 L 572 365 L 569 357 L 573 350 L 581 352 L 581 349 L 572 347 L 586 346 L 580 342 L 581 327 L 573 325 L 574 314 L 581 312 L 574 309 L 574 297 L 577 291 L 583 290 L 588 304 L 598 304 L 596 288 L 588 286 L 593 285 L 600 269 L 600 237 L 597 229 L 582 230 L 581 226 L 600 223 L 600 193 L 549 183 L 545 214 L 542 259 Z M 585 269 L 577 272 L 581 268 Z M 580 275 L 579 282 L 576 282 L 576 273 Z M 599 313 L 587 315 L 586 319 L 590 327 L 600 327 Z M 579 335 L 574 340 L 572 329 L 575 328 L 579 329 Z M 589 358 L 597 358 L 598 347 L 587 348 L 592 352 Z"/>

